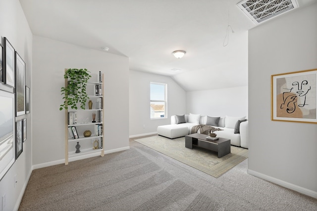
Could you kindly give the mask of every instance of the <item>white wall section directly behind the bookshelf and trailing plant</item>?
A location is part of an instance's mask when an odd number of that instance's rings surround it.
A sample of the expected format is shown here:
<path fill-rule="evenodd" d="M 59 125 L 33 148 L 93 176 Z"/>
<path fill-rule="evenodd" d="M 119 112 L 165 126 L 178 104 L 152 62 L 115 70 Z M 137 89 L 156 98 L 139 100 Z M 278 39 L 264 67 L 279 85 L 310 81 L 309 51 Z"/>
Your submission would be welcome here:
<path fill-rule="evenodd" d="M 38 36 L 33 37 L 33 53 L 33 165 L 64 162 L 64 110 L 60 111 L 59 105 L 65 68 L 105 74 L 105 153 L 129 147 L 127 57 Z"/>

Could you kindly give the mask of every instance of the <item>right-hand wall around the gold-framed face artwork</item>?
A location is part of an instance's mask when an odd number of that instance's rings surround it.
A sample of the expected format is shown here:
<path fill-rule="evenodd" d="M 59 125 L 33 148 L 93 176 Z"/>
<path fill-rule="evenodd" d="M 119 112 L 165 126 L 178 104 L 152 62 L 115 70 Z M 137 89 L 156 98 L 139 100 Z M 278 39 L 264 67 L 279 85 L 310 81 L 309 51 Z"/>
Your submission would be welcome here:
<path fill-rule="evenodd" d="M 250 174 L 317 198 L 317 124 L 271 121 L 271 75 L 317 68 L 317 3 L 249 31 Z"/>

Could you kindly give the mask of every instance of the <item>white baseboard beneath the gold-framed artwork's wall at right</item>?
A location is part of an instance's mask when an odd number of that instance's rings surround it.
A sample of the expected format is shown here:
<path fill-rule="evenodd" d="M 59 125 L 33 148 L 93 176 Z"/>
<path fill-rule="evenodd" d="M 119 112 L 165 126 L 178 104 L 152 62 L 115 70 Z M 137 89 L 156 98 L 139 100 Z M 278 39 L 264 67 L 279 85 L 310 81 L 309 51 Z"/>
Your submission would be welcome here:
<path fill-rule="evenodd" d="M 312 191 L 312 190 L 309 190 L 307 188 L 303 188 L 303 187 L 285 182 L 283 180 L 276 179 L 276 178 L 271 177 L 271 176 L 267 176 L 265 174 L 259 173 L 259 172 L 254 171 L 254 170 L 248 169 L 248 174 L 251 174 L 253 176 L 256 176 L 256 177 L 259 177 L 261 179 L 267 180 L 269 182 L 275 183 L 275 184 L 280 185 L 282 187 L 291 189 L 293 191 L 297 191 L 301 194 L 304 194 L 304 195 L 307 195 L 307 196 L 310 196 L 310 197 L 317 199 L 317 192 L 316 191 Z"/>

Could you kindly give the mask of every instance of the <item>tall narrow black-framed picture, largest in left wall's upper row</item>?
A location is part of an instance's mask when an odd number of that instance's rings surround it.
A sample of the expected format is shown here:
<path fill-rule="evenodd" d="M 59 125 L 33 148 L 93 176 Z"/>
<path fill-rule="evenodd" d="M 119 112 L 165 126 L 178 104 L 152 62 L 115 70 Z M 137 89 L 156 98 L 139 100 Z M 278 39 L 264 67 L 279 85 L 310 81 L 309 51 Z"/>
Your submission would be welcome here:
<path fill-rule="evenodd" d="M 25 114 L 25 63 L 21 56 L 15 52 L 16 74 L 16 116 Z"/>

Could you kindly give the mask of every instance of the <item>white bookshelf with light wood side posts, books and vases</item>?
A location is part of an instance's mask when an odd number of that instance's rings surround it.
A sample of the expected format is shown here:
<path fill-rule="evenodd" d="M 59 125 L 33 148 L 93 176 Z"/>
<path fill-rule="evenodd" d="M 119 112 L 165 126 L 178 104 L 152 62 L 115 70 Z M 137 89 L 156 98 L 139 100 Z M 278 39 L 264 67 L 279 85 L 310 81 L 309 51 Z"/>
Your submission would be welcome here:
<path fill-rule="evenodd" d="M 97 75 L 97 74 L 96 74 Z M 96 76 L 95 75 L 95 76 Z M 98 73 L 99 75 L 99 73 Z M 88 101 L 85 109 L 78 106 L 77 110 L 65 110 L 65 165 L 68 161 L 90 158 L 94 156 L 105 155 L 105 139 L 104 139 L 104 74 L 101 74 L 101 81 L 99 77 L 89 79 L 87 83 L 86 92 L 88 94 Z M 65 87 L 67 86 L 67 79 L 65 79 Z M 89 108 L 89 101 L 92 102 L 91 109 Z M 93 117 L 95 114 L 95 121 Z M 87 137 L 87 134 L 90 136 Z M 85 133 L 85 135 L 84 135 Z M 76 145 L 80 145 L 79 153 L 76 153 Z"/>

